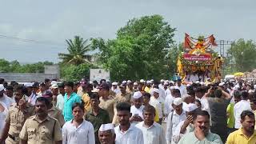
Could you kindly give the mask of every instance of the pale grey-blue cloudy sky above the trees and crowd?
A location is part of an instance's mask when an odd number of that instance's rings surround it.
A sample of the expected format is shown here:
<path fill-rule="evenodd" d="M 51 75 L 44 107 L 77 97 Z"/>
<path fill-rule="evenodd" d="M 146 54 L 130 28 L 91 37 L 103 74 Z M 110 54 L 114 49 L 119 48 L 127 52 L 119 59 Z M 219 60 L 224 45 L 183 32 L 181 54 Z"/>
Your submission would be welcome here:
<path fill-rule="evenodd" d="M 255 0 L 0 0 L 0 58 L 58 62 L 65 39 L 115 38 L 130 18 L 161 14 L 184 33 L 256 41 Z M 7 36 L 7 37 L 6 37 Z M 24 42 L 18 38 L 34 41 Z"/>

